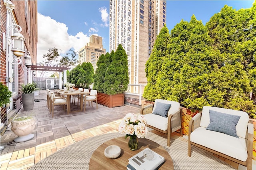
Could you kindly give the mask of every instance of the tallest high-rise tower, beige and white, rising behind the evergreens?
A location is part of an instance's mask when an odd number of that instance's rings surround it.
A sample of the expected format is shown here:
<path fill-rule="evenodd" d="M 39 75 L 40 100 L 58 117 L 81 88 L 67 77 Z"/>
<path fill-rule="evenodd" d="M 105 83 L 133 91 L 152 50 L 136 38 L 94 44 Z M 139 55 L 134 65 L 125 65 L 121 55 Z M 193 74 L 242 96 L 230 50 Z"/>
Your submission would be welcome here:
<path fill-rule="evenodd" d="M 110 0 L 109 49 L 122 44 L 130 84 L 146 84 L 145 64 L 166 23 L 166 0 Z M 136 92 L 138 87 L 128 91 Z"/>

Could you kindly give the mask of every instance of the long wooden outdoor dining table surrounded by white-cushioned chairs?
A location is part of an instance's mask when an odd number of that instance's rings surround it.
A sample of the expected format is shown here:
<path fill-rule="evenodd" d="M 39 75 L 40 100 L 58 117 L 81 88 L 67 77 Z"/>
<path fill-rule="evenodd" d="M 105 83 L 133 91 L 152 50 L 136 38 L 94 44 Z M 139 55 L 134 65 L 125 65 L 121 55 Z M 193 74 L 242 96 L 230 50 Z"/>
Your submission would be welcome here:
<path fill-rule="evenodd" d="M 55 91 L 57 93 L 59 93 L 60 95 L 67 96 L 67 101 L 68 101 L 67 109 L 68 109 L 68 113 L 74 113 L 74 112 L 78 112 L 78 111 L 82 112 L 83 111 L 84 95 L 89 95 L 90 94 L 90 92 L 84 92 L 84 91 L 80 91 L 80 90 L 71 91 L 71 90 L 56 89 Z M 80 96 L 80 110 L 70 111 L 70 99 L 71 99 L 72 95 Z"/>

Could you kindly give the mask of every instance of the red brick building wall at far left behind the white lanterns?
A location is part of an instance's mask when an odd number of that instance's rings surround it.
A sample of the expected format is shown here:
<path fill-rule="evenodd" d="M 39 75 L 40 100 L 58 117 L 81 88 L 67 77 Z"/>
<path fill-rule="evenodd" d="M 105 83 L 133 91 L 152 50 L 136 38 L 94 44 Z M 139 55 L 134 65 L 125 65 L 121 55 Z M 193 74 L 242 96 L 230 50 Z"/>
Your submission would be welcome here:
<path fill-rule="evenodd" d="M 37 43 L 38 43 L 38 29 L 37 29 L 37 1 L 35 0 L 12 0 L 12 1 L 6 1 L 14 4 L 15 8 L 12 11 L 11 18 L 15 20 L 16 24 L 20 25 L 22 27 L 22 32 L 20 32 L 25 40 L 25 47 L 28 51 L 30 51 L 30 56 L 32 57 L 32 64 L 36 64 L 36 53 L 37 53 Z M 26 14 L 26 4 L 28 3 L 28 13 Z M 2 82 L 4 85 L 6 84 L 6 77 L 9 77 L 6 72 L 6 51 L 3 49 L 3 43 L 5 42 L 5 37 L 3 37 L 3 32 L 6 34 L 6 20 L 7 20 L 7 9 L 4 4 L 4 0 L 0 0 L 0 82 Z M 27 19 L 26 19 L 27 16 Z M 15 95 L 12 96 L 12 98 L 15 98 L 16 96 L 21 94 L 21 85 L 28 82 L 27 72 L 23 70 L 23 68 L 26 68 L 24 66 L 24 57 L 22 65 L 18 65 L 18 91 Z M 27 76 L 25 76 L 27 74 Z M 12 105 L 12 103 L 11 103 Z M 7 112 L 6 108 L 1 111 L 1 122 L 5 123 L 7 118 Z"/>

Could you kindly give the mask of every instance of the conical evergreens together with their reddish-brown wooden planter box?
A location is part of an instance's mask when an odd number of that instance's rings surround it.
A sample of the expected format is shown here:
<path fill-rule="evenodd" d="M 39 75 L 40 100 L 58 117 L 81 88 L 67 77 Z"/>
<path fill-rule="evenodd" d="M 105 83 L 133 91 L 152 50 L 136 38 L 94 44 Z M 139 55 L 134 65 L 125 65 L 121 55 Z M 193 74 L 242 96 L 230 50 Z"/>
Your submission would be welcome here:
<path fill-rule="evenodd" d="M 124 48 L 119 44 L 116 52 L 102 55 L 98 62 L 93 87 L 98 91 L 98 103 L 109 108 L 124 106 L 124 92 L 129 83 L 128 61 Z"/>

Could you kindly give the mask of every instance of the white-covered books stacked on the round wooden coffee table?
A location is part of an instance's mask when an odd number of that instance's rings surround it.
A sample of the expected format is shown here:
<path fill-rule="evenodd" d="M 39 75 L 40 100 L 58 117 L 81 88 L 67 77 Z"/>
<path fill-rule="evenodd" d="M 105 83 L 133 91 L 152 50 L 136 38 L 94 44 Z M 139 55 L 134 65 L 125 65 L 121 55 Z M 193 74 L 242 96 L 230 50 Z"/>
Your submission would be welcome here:
<path fill-rule="evenodd" d="M 128 159 L 129 164 L 127 165 L 127 170 L 157 170 L 164 163 L 164 157 L 153 150 L 154 158 L 152 160 L 147 160 L 143 155 L 144 150 Z"/>

